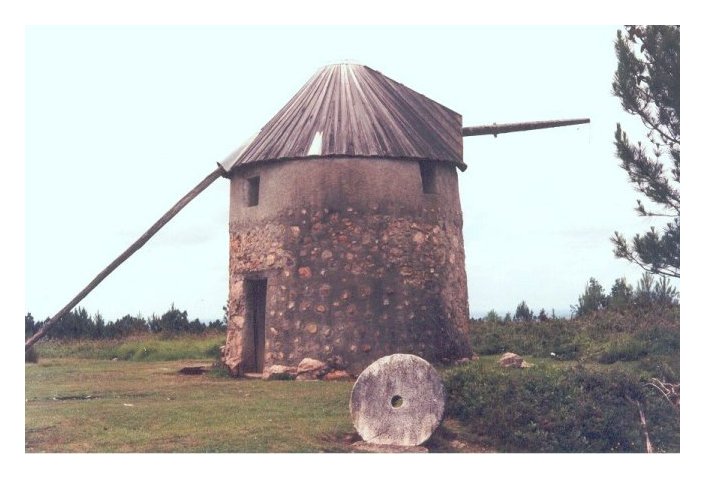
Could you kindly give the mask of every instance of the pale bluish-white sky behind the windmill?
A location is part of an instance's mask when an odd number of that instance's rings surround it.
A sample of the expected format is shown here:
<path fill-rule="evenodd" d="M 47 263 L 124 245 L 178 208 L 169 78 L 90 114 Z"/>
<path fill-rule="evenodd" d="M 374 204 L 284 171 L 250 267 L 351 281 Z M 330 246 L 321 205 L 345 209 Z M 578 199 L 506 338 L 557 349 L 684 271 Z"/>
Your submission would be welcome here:
<path fill-rule="evenodd" d="M 354 60 L 463 125 L 589 117 L 464 139 L 458 172 L 470 311 L 568 312 L 592 276 L 639 268 L 615 230 L 651 220 L 612 145 L 643 138 L 611 95 L 618 26 L 32 27 L 26 31 L 25 308 L 55 314 L 322 65 Z M 228 290 L 219 179 L 81 302 L 106 320 L 217 319 Z M 678 283 L 676 282 L 678 285 Z"/>

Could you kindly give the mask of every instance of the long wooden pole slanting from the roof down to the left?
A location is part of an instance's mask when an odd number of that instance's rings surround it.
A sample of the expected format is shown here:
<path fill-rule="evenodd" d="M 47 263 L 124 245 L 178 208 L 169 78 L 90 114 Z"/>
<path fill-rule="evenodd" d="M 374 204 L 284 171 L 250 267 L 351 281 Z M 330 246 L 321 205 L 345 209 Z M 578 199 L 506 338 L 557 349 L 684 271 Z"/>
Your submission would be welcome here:
<path fill-rule="evenodd" d="M 171 209 L 164 214 L 164 216 L 159 218 L 157 222 L 154 223 L 152 227 L 149 228 L 142 236 L 140 236 L 137 241 L 132 243 L 132 245 L 130 245 L 130 247 L 127 248 L 120 256 L 115 258 L 115 260 L 113 260 L 113 262 L 110 263 L 107 268 L 98 273 L 98 276 L 93 278 L 93 281 L 88 283 L 88 285 L 83 288 L 81 292 L 78 293 L 71 301 L 69 301 L 69 303 L 61 309 L 61 311 L 56 313 L 54 317 L 44 323 L 44 325 L 39 329 L 39 331 L 37 331 L 36 334 L 34 334 L 24 343 L 25 352 L 29 348 L 31 348 L 34 343 L 42 339 L 44 335 L 52 328 L 52 326 L 59 322 L 59 320 L 63 318 L 66 313 L 71 311 L 83 298 L 85 298 L 88 293 L 93 291 L 93 289 L 98 286 L 100 282 L 103 281 L 110 273 L 112 273 L 115 268 L 124 263 L 127 258 L 129 258 L 135 253 L 135 251 L 144 246 L 145 243 L 147 243 L 147 241 L 149 241 L 149 239 L 154 236 L 157 231 L 162 229 L 165 224 L 167 224 L 174 216 L 176 216 L 176 214 L 181 211 L 184 206 L 189 204 L 192 199 L 201 194 L 201 192 L 208 188 L 211 183 L 216 180 L 216 178 L 222 176 L 224 173 L 225 170 L 223 169 L 223 167 L 218 165 L 218 168 L 216 168 L 215 171 L 206 176 L 203 181 L 196 185 L 195 188 L 186 193 L 183 198 L 181 198 L 174 206 L 172 206 Z"/>

